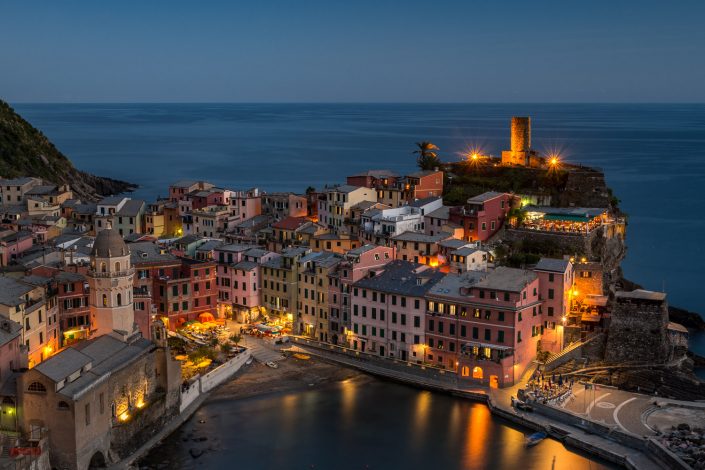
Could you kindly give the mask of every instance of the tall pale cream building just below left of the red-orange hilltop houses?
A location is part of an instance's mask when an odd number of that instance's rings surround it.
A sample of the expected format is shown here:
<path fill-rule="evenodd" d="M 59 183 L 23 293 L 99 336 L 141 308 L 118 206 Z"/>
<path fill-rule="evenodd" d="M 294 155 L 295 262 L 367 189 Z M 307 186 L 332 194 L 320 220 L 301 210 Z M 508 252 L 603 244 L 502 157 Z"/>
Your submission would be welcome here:
<path fill-rule="evenodd" d="M 339 185 L 327 188 L 318 201 L 318 220 L 323 226 L 336 232 L 349 231 L 350 209 L 362 202 L 377 202 L 377 193 L 362 186 Z"/>

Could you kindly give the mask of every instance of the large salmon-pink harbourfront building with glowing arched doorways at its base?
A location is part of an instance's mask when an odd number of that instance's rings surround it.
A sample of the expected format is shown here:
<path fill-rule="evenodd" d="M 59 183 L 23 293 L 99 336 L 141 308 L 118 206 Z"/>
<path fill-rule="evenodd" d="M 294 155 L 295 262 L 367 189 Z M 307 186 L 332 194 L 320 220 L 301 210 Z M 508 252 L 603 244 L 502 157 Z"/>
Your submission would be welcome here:
<path fill-rule="evenodd" d="M 536 357 L 539 278 L 523 269 L 448 274 L 426 295 L 425 361 L 468 384 L 512 385 Z"/>

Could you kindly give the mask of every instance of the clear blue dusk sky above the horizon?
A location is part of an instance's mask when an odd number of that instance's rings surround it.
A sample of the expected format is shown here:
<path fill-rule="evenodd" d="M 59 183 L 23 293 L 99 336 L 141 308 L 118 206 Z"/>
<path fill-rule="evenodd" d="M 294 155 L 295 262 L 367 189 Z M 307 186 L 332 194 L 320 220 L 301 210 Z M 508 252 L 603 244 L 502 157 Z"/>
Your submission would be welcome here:
<path fill-rule="evenodd" d="M 705 102 L 705 1 L 6 1 L 10 102 Z"/>

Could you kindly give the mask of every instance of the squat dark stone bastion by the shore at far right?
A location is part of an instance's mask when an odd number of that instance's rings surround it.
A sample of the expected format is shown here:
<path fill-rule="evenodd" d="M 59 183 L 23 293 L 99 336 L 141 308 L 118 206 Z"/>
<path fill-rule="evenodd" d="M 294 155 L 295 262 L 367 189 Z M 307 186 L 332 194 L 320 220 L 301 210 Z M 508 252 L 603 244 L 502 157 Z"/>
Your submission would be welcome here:
<path fill-rule="evenodd" d="M 659 364 L 668 360 L 666 294 L 617 292 L 607 332 L 605 361 Z"/>

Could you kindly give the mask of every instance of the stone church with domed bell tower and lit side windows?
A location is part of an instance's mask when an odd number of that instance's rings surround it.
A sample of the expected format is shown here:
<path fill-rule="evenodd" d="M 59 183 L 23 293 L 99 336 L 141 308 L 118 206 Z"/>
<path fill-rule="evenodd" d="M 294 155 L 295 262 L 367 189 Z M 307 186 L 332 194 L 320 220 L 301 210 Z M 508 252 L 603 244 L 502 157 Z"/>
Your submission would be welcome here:
<path fill-rule="evenodd" d="M 105 466 L 139 446 L 178 412 L 181 371 L 161 322 L 153 340 L 134 321 L 134 268 L 120 235 L 98 233 L 91 251 L 90 339 L 60 351 L 18 380 L 24 432 L 48 429 L 52 467 Z"/>

